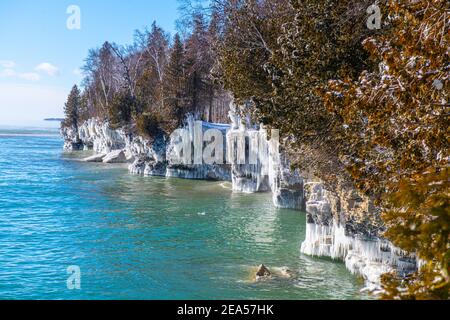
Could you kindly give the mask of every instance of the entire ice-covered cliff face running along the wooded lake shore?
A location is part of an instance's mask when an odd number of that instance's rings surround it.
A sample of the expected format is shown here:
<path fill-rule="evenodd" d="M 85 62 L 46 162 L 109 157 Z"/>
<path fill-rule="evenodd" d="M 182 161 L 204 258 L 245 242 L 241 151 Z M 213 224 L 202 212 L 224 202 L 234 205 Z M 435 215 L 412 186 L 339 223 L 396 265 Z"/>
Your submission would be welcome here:
<path fill-rule="evenodd" d="M 229 116 L 231 125 L 202 122 L 201 130 L 205 133 L 215 129 L 222 133 L 225 137 L 224 159 L 233 159 L 232 164 L 174 163 L 171 158 L 174 141 L 162 137 L 149 141 L 126 134 L 122 129 L 113 130 L 108 123 L 96 119 L 83 123 L 78 132 L 74 128 L 63 128 L 61 133 L 65 150 L 84 148 L 99 154 L 91 157 L 91 161 L 102 161 L 107 154 L 117 150 L 123 160 L 123 152 L 126 161 L 131 163 L 129 170 L 134 174 L 224 180 L 232 181 L 232 189 L 238 192 L 271 191 L 277 207 L 307 212 L 306 237 L 301 252 L 342 259 L 352 273 L 366 280 L 370 289 L 378 288 L 380 275 L 384 272 L 397 270 L 406 274 L 416 270 L 420 261 L 390 242 L 347 230 L 349 212 L 336 211 L 330 203 L 329 192 L 321 183 L 306 183 L 297 170 L 290 170 L 287 156 L 279 152 L 278 145 L 268 141 L 264 126 L 251 126 L 248 118 L 239 117 L 234 105 Z M 186 128 L 188 139 L 194 143 L 195 134 L 199 134 L 194 132 L 194 117 L 187 118 Z M 244 140 L 239 140 L 240 137 Z M 246 159 L 238 159 L 238 154 L 244 154 Z M 309 187 L 308 194 L 305 194 L 305 186 Z"/>

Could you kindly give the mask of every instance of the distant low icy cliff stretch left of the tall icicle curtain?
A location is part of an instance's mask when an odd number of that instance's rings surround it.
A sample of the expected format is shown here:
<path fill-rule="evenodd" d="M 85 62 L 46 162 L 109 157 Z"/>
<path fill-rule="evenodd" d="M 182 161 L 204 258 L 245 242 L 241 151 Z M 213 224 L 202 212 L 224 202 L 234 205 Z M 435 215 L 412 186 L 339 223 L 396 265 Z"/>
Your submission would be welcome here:
<path fill-rule="evenodd" d="M 189 136 L 194 135 L 194 118 L 188 117 Z M 225 136 L 229 125 L 202 122 L 203 132 L 218 129 Z M 231 181 L 230 165 L 182 165 L 171 161 L 173 141 L 164 137 L 154 140 L 127 133 L 122 128 L 112 129 L 107 122 L 92 118 L 76 128 L 62 128 L 64 150 L 93 150 L 96 154 L 83 159 L 86 162 L 129 163 L 132 174 L 177 177 L 184 179 Z"/>

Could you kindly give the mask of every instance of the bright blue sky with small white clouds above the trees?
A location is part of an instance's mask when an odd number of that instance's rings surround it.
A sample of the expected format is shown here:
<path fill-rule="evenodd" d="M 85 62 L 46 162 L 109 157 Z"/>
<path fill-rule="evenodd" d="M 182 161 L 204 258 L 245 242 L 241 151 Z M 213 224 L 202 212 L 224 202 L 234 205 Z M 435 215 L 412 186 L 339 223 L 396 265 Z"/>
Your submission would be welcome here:
<path fill-rule="evenodd" d="M 80 8 L 79 30 L 67 28 L 70 5 Z M 90 48 L 129 44 L 154 20 L 173 34 L 177 8 L 176 0 L 0 0 L 0 125 L 61 117 Z"/>

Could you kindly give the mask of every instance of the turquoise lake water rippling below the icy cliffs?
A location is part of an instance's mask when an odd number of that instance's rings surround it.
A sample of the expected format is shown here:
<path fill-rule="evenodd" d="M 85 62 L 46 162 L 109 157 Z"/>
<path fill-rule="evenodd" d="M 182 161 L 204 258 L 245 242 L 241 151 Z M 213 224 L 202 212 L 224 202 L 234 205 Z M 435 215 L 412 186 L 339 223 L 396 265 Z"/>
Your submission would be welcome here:
<path fill-rule="evenodd" d="M 270 194 L 133 176 L 62 145 L 55 131 L 0 130 L 0 299 L 365 298 L 343 263 L 299 252 L 305 215 Z M 261 263 L 292 277 L 255 282 Z"/>

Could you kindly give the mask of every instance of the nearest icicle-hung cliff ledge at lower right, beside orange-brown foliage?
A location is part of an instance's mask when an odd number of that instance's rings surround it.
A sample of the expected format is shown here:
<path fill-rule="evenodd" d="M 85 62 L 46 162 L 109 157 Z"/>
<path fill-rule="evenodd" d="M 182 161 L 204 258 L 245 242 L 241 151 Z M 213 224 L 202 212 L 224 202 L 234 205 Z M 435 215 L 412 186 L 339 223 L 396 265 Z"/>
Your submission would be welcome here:
<path fill-rule="evenodd" d="M 308 183 L 307 190 L 302 253 L 343 260 L 348 270 L 364 278 L 370 291 L 380 288 L 383 273 L 395 270 L 406 275 L 417 270 L 414 255 L 382 239 L 370 222 L 355 222 L 355 216 L 372 213 L 368 212 L 373 208 L 366 199 L 355 197 L 354 193 L 333 194 L 321 183 Z"/>

